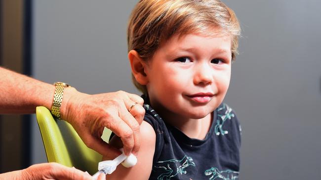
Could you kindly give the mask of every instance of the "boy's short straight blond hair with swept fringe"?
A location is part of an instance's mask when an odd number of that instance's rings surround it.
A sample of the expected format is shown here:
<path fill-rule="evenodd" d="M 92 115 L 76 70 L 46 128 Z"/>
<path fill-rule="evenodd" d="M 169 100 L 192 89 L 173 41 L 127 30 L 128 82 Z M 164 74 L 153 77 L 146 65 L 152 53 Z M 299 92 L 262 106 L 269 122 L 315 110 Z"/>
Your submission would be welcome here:
<path fill-rule="evenodd" d="M 173 35 L 201 32 L 232 35 L 232 60 L 238 54 L 239 21 L 232 9 L 220 0 L 140 0 L 128 22 L 128 51 L 136 50 L 144 61 L 150 60 L 160 44 Z M 138 90 L 147 94 L 146 87 L 132 76 Z"/>

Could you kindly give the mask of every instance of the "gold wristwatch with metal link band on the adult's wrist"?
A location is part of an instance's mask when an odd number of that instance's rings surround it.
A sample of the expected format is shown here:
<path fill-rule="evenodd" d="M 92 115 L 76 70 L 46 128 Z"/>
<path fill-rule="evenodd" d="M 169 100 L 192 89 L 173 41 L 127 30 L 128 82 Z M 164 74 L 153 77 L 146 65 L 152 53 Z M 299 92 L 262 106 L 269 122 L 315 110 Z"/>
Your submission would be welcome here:
<path fill-rule="evenodd" d="M 60 107 L 61 107 L 61 102 L 62 98 L 64 95 L 64 89 L 67 87 L 71 87 L 66 83 L 61 83 L 61 82 L 55 82 L 53 85 L 55 85 L 55 94 L 53 96 L 53 102 L 52 102 L 52 107 L 51 107 L 51 114 L 55 117 L 57 117 L 59 120 L 60 119 Z"/>

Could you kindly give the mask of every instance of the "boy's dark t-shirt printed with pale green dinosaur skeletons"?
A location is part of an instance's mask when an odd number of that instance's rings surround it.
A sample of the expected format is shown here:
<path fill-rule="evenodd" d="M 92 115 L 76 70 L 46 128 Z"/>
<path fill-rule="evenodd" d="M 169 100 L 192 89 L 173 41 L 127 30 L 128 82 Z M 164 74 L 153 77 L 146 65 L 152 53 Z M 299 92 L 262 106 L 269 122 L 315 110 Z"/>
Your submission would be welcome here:
<path fill-rule="evenodd" d="M 241 126 L 234 111 L 221 104 L 203 140 L 192 139 L 144 104 L 144 120 L 156 133 L 150 180 L 238 180 Z"/>

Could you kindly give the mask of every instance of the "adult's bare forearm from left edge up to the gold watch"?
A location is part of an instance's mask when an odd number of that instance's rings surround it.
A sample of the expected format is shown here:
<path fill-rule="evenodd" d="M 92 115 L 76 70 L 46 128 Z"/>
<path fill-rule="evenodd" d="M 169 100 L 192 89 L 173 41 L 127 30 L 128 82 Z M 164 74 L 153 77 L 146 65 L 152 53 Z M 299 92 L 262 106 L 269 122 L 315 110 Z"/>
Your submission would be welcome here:
<path fill-rule="evenodd" d="M 51 109 L 55 87 L 0 67 L 0 114 L 35 113 L 37 106 Z"/>

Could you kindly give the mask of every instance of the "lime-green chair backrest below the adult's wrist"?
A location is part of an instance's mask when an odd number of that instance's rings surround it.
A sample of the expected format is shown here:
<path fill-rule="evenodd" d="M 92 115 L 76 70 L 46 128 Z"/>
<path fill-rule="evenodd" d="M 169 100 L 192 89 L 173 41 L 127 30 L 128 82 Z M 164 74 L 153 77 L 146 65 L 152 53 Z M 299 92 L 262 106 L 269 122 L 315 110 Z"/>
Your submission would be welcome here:
<path fill-rule="evenodd" d="M 97 172 L 102 156 L 87 148 L 68 122 L 55 120 L 45 107 L 37 107 L 36 114 L 48 162 L 74 166 L 91 175 Z"/>

